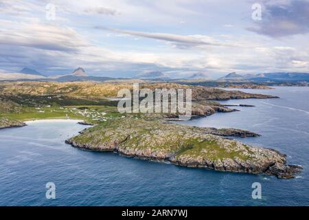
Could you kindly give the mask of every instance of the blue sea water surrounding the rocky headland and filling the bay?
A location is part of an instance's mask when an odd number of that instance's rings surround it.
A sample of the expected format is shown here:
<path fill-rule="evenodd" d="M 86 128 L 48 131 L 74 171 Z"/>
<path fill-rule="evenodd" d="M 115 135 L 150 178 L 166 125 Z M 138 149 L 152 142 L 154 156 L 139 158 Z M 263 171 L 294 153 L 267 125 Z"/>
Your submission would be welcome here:
<path fill-rule="evenodd" d="M 260 133 L 241 139 L 275 148 L 304 170 L 295 179 L 185 168 L 82 151 L 65 144 L 87 126 L 76 121 L 32 122 L 0 130 L 0 206 L 308 206 L 309 87 L 244 89 L 279 99 L 228 100 L 240 111 L 182 122 Z M 56 199 L 46 199 L 47 182 Z M 251 196 L 253 182 L 262 199 Z"/>

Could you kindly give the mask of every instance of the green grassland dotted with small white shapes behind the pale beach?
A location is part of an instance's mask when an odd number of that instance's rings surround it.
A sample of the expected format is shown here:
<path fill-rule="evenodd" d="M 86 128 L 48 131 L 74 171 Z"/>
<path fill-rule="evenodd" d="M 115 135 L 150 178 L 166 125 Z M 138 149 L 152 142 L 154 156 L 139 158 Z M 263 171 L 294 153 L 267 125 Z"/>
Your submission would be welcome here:
<path fill-rule="evenodd" d="M 64 90 L 67 89 L 64 88 Z M 117 102 L 63 95 L 19 94 L 0 96 L 0 118 L 21 121 L 71 118 L 96 123 L 103 118 L 102 116 L 104 118 L 120 117 L 121 114 L 117 112 Z"/>

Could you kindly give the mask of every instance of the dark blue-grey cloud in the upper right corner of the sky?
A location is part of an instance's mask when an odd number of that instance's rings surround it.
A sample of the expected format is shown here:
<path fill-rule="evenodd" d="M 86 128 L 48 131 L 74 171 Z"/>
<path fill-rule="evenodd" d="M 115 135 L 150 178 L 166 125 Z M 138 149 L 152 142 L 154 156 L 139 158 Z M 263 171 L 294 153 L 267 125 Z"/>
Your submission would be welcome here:
<path fill-rule="evenodd" d="M 283 37 L 309 32 L 309 1 L 294 0 L 271 4 L 266 1 L 262 21 L 247 28 L 252 32 L 272 37 Z"/>

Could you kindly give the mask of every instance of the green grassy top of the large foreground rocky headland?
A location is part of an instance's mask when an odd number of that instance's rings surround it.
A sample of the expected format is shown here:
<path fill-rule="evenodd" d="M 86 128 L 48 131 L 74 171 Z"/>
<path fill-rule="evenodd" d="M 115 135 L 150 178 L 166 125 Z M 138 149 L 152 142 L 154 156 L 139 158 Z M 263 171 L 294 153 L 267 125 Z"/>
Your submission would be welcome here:
<path fill-rule="evenodd" d="M 207 159 L 238 157 L 247 160 L 253 153 L 245 144 L 206 134 L 203 128 L 134 118 L 106 120 L 73 137 L 72 141 L 79 144 L 87 143 L 95 148 L 115 144 L 119 148 L 130 146 L 135 151 L 158 151 L 176 157 L 183 155 Z"/>

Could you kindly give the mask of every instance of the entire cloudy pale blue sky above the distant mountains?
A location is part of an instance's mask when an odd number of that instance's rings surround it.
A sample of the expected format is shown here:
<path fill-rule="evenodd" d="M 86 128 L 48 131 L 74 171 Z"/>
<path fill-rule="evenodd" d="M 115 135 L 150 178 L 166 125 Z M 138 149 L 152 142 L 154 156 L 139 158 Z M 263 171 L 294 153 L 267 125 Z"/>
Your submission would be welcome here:
<path fill-rule="evenodd" d="M 0 72 L 309 72 L 309 0 L 0 0 Z"/>

